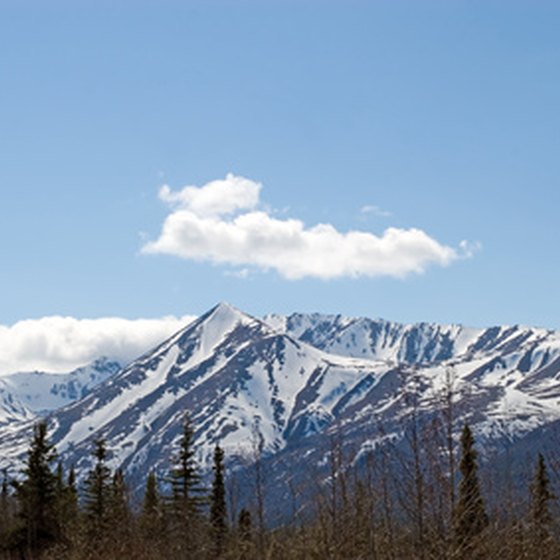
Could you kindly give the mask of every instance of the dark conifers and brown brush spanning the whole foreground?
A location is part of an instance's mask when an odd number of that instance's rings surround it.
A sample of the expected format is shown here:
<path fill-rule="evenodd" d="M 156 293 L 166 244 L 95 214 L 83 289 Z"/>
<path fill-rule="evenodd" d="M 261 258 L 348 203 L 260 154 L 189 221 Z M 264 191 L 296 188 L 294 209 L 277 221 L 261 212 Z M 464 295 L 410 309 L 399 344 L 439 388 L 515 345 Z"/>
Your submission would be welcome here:
<path fill-rule="evenodd" d="M 215 447 L 211 476 L 204 478 L 193 433 L 186 417 L 173 467 L 161 479 L 150 472 L 142 499 L 133 500 L 124 473 L 107 466 L 103 440 L 95 442 L 92 467 L 78 484 L 74 470 L 58 461 L 47 424 L 36 424 L 24 468 L 14 476 L 4 472 L 1 558 L 560 557 L 546 458 L 534 458 L 531 480 L 520 492 L 504 490 L 507 484 L 492 489 L 482 480 L 468 424 L 456 452 L 451 446 L 430 461 L 428 440 L 415 431 L 406 456 L 390 461 L 395 457 L 372 454 L 356 468 L 333 444 L 312 513 L 282 524 L 266 522 L 262 465 L 255 469 L 256 484 L 246 489 L 251 506 L 232 511 L 224 451 Z"/>

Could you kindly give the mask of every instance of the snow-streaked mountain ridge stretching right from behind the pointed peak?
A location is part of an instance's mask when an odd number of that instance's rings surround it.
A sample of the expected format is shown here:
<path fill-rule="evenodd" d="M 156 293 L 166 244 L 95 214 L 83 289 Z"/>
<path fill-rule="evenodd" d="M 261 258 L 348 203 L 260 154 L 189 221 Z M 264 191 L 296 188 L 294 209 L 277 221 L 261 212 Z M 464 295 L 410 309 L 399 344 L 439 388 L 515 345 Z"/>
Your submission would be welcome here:
<path fill-rule="evenodd" d="M 386 403 L 384 409 L 387 422 L 402 416 L 397 408 L 403 395 L 411 392 L 420 410 L 433 412 L 449 384 L 457 408 L 476 422 L 481 437 L 496 443 L 560 418 L 560 333 L 556 331 L 402 325 L 318 314 L 266 320 L 278 332 L 327 352 L 392 365 L 395 387 L 393 403 Z M 377 397 L 379 388 L 373 394 Z M 365 404 L 364 400 L 359 408 Z"/>

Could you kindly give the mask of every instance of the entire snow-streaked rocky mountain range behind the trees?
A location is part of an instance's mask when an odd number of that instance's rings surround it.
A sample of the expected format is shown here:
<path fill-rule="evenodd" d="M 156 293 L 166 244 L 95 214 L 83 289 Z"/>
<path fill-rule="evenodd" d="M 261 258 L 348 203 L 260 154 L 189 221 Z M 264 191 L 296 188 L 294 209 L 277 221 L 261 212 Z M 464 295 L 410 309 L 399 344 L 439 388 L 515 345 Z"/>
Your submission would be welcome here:
<path fill-rule="evenodd" d="M 85 385 L 65 383 L 46 383 L 42 400 L 0 385 L 10 421 L 0 467 L 24 456 L 35 403 L 51 407 L 51 439 L 68 465 L 83 474 L 102 437 L 110 466 L 140 485 L 149 470 L 169 469 L 188 412 L 203 465 L 217 443 L 241 469 L 262 452 L 285 487 L 324 465 L 335 437 L 355 462 L 443 413 L 456 433 L 471 422 L 485 456 L 534 438 L 560 421 L 560 335 L 325 315 L 260 320 L 220 304 L 70 404 Z"/>

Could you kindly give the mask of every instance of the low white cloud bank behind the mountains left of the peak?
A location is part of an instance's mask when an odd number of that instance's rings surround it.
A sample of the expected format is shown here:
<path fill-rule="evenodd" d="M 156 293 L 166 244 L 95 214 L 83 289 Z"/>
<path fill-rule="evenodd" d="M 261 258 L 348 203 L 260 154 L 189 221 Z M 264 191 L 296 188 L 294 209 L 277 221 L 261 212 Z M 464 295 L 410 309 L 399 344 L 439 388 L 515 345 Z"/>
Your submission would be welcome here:
<path fill-rule="evenodd" d="M 0 375 L 69 372 L 106 356 L 129 362 L 186 326 L 192 316 L 160 319 L 44 317 L 0 325 Z"/>

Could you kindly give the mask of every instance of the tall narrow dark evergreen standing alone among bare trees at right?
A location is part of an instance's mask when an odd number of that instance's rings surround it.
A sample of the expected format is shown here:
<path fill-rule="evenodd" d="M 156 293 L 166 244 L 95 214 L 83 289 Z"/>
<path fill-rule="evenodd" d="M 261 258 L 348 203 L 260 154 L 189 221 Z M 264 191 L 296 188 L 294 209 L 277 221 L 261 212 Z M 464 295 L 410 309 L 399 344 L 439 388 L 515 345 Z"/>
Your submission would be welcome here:
<path fill-rule="evenodd" d="M 488 524 L 476 458 L 474 438 L 469 425 L 465 424 L 461 434 L 461 482 L 455 509 L 455 536 L 460 548 L 468 547 L 469 542 Z"/>

